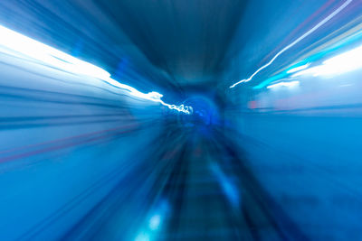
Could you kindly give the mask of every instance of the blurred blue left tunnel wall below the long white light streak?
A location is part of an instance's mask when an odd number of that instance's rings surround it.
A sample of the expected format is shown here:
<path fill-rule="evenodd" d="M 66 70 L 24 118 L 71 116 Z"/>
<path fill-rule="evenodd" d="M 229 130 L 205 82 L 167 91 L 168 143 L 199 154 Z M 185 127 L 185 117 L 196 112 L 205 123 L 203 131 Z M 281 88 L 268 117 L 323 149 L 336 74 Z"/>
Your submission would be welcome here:
<path fill-rule="evenodd" d="M 100 79 L 4 52 L 0 103 L 3 240 L 69 232 L 143 162 L 139 150 L 154 142 L 165 114 Z"/>

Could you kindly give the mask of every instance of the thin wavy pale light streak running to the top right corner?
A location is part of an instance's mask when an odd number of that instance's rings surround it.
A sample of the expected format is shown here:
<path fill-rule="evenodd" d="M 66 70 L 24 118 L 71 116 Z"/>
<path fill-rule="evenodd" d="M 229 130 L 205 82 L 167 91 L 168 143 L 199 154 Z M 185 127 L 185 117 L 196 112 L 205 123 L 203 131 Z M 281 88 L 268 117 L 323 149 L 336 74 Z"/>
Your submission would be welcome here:
<path fill-rule="evenodd" d="M 293 47 L 295 44 L 297 44 L 298 42 L 302 41 L 303 39 L 305 39 L 306 37 L 308 37 L 312 32 L 315 32 L 316 30 L 319 29 L 319 27 L 321 27 L 322 25 L 324 25 L 325 23 L 329 22 L 330 19 L 332 19 L 335 15 L 337 15 L 340 11 L 342 11 L 343 9 L 345 9 L 350 3 L 352 3 L 353 0 L 347 0 L 343 5 L 340 5 L 338 7 L 338 9 L 336 9 L 332 14 L 329 14 L 325 19 L 323 19 L 322 21 L 320 21 L 318 24 L 316 24 L 313 28 L 310 29 L 310 31 L 305 32 L 303 35 L 301 35 L 298 39 L 296 39 L 294 42 L 291 42 L 291 44 L 289 44 L 288 46 L 286 46 L 284 49 L 282 49 L 281 51 L 279 51 L 277 54 L 275 54 L 275 56 L 265 65 L 263 65 L 261 68 L 259 68 L 258 70 L 256 70 L 248 79 L 242 79 L 239 82 L 234 83 L 232 86 L 230 86 L 230 88 L 234 88 L 235 86 L 244 83 L 244 82 L 249 82 L 250 80 L 252 80 L 252 78 L 259 73 L 260 71 L 264 70 L 265 68 L 267 68 L 268 66 L 271 65 L 271 63 L 276 60 L 284 51 L 288 51 L 289 49 L 291 49 L 291 47 Z"/>

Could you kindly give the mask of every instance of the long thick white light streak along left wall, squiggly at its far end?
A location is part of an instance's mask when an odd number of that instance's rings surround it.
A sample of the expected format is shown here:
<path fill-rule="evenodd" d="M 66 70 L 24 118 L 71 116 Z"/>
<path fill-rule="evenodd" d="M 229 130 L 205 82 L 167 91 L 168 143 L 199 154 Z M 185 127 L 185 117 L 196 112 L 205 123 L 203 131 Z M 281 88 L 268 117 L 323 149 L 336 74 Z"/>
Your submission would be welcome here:
<path fill-rule="evenodd" d="M 128 85 L 121 84 L 119 81 L 110 78 L 110 73 L 89 62 L 79 60 L 71 55 L 58 51 L 42 42 L 37 42 L 29 37 L 0 25 L 0 52 L 11 54 L 17 57 L 36 60 L 44 65 L 51 66 L 58 70 L 63 70 L 73 74 L 89 76 L 96 79 L 102 79 L 113 87 L 122 88 L 129 91 L 129 94 L 135 97 L 157 102 L 170 109 L 175 109 L 187 115 L 192 114 L 192 107 L 184 105 L 176 106 L 165 103 L 161 100 L 162 94 L 155 91 L 148 94 L 138 91 Z"/>

